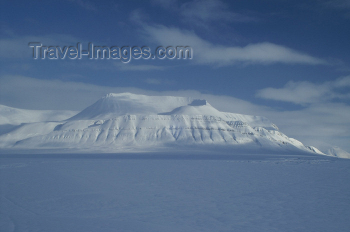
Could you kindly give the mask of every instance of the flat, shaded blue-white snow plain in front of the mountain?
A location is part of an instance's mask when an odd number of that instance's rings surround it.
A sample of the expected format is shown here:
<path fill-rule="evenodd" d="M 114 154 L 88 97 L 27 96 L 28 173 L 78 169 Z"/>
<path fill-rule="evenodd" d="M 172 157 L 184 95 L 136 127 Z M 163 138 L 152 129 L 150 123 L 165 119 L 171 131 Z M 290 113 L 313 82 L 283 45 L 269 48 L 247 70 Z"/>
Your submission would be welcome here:
<path fill-rule="evenodd" d="M 1 231 L 349 231 L 350 160 L 0 155 Z"/>

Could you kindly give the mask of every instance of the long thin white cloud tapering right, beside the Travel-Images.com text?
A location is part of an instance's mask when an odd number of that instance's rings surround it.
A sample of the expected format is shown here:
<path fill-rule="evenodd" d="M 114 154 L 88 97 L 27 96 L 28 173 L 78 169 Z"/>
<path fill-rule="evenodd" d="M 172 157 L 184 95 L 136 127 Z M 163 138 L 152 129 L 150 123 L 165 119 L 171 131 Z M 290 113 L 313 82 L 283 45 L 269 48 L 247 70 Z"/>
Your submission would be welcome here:
<path fill-rule="evenodd" d="M 194 32 L 163 25 L 143 24 L 148 38 L 159 45 L 187 45 L 193 50 L 193 59 L 199 64 L 230 65 L 243 63 L 299 63 L 325 64 L 320 58 L 270 42 L 248 44 L 246 46 L 222 46 L 210 43 Z"/>

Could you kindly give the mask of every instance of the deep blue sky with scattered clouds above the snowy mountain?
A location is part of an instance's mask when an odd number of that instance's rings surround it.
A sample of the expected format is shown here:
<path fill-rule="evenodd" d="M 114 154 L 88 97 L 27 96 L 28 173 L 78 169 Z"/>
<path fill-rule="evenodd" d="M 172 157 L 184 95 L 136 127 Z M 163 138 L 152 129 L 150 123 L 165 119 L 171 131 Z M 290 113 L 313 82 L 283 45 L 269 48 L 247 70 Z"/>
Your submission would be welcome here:
<path fill-rule="evenodd" d="M 109 91 L 192 94 L 350 151 L 349 0 L 13 0 L 0 21 L 0 104 L 80 110 Z M 35 60 L 28 42 L 189 45 L 193 58 Z"/>

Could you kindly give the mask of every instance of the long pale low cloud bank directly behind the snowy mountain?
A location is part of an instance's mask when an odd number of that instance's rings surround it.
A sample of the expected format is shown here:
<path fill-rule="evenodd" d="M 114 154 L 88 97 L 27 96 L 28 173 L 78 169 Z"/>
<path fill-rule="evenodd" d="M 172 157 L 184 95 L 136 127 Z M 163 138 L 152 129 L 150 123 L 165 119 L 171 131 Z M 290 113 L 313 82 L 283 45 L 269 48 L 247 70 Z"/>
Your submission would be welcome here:
<path fill-rule="evenodd" d="M 349 82 L 347 77 L 343 77 L 332 83 L 346 83 L 348 86 Z M 321 149 L 336 145 L 350 151 L 350 106 L 345 103 L 317 102 L 299 110 L 277 111 L 232 96 L 203 94 L 196 90 L 151 91 L 73 81 L 40 80 L 25 76 L 0 77 L 0 104 L 19 108 L 82 110 L 109 92 L 206 99 L 220 111 L 266 116 L 281 132 L 305 145 L 314 145 Z"/>

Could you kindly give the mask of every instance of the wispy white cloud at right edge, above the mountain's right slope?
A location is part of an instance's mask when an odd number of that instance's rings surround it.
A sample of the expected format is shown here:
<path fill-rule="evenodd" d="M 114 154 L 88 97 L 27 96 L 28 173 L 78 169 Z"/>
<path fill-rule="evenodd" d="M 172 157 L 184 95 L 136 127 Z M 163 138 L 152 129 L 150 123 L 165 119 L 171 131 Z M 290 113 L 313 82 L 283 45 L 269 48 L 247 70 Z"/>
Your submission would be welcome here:
<path fill-rule="evenodd" d="M 263 88 L 257 91 L 256 96 L 287 101 L 295 104 L 308 104 L 330 101 L 332 99 L 350 99 L 350 92 L 341 91 L 350 87 L 350 76 L 337 78 L 323 83 L 309 81 L 289 81 L 281 88 Z"/>

